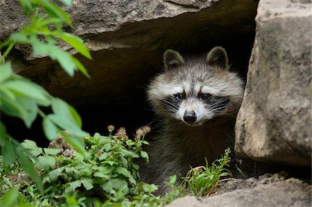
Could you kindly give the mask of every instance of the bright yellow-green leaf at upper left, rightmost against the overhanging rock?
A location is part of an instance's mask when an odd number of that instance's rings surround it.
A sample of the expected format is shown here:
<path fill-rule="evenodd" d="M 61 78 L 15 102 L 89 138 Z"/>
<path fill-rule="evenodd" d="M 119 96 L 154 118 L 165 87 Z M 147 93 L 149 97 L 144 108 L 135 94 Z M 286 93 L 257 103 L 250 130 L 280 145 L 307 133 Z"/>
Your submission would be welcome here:
<path fill-rule="evenodd" d="M 88 49 L 83 44 L 83 39 L 69 33 L 62 33 L 61 38 L 64 40 L 64 42 L 67 42 L 73 48 L 75 48 L 81 55 L 87 57 L 88 59 L 92 59 Z"/>

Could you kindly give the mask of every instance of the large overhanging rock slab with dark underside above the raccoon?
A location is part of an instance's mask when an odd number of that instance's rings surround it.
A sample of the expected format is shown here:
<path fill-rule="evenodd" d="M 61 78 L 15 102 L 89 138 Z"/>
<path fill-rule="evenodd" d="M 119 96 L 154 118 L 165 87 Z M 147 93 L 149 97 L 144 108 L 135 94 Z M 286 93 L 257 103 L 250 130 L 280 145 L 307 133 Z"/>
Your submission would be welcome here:
<path fill-rule="evenodd" d="M 17 2 L 0 1 L 0 19 L 3 19 L 0 41 L 26 24 Z M 69 78 L 58 64 L 47 57 L 33 57 L 28 48 L 18 47 L 21 53 L 13 51 L 10 58 L 16 60 L 19 74 L 74 106 L 133 106 L 144 101 L 143 88 L 162 68 L 162 55 L 168 48 L 199 53 L 219 44 L 229 54 L 232 51 L 231 60 L 235 60 L 236 48 L 240 46 L 241 54 L 236 60 L 247 65 L 257 3 L 257 0 L 231 3 L 76 0 L 71 8 L 66 8 L 73 20 L 73 30 L 66 29 L 83 37 L 92 51 L 93 60 L 76 55 L 91 79 L 81 73 Z"/>

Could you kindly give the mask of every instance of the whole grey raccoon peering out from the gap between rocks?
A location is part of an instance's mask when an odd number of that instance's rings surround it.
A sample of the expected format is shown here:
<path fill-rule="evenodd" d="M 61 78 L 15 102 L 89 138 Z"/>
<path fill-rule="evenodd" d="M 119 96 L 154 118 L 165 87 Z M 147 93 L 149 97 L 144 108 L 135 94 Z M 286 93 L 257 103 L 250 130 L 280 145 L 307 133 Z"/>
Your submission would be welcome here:
<path fill-rule="evenodd" d="M 159 134 L 147 149 L 150 162 L 141 179 L 159 185 L 169 176 L 185 176 L 192 167 L 211 163 L 230 147 L 234 151 L 234 123 L 243 98 L 243 81 L 229 71 L 227 53 L 212 48 L 205 58 L 183 58 L 168 50 L 164 72 L 148 86 L 148 100 L 161 118 Z"/>

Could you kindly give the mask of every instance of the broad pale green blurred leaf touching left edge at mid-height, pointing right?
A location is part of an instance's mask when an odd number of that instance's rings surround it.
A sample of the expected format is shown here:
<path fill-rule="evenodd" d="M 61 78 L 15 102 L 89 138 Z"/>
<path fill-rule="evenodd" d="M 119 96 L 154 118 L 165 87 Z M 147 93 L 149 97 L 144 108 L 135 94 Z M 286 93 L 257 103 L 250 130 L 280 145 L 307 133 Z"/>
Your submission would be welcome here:
<path fill-rule="evenodd" d="M 33 98 L 39 105 L 49 106 L 49 93 L 47 93 L 42 87 L 39 85 L 26 81 L 26 80 L 9 80 L 4 82 L 1 87 L 6 87 L 7 89 L 11 89 L 22 96 L 26 96 L 29 98 Z"/>

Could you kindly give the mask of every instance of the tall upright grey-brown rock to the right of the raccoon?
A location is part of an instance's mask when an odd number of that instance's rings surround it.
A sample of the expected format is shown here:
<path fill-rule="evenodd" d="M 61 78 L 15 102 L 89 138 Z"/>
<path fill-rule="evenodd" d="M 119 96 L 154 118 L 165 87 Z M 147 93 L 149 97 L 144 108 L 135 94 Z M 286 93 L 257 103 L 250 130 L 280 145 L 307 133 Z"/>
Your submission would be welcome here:
<path fill-rule="evenodd" d="M 236 121 L 235 152 L 244 159 L 311 170 L 311 8 L 311 1 L 259 2 Z"/>

